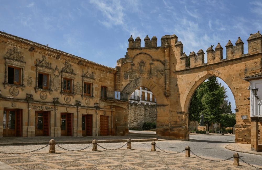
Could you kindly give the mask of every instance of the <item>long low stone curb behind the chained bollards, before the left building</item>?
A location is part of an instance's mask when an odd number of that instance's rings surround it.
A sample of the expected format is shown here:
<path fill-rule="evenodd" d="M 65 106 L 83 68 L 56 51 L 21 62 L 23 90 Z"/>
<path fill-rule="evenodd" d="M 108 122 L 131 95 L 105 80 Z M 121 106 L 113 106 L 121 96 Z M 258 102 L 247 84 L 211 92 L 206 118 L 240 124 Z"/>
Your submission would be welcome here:
<path fill-rule="evenodd" d="M 151 141 L 161 141 L 166 139 L 132 139 L 132 142 L 151 142 Z M 98 143 L 121 143 L 127 142 L 127 139 L 117 139 L 117 140 L 98 140 Z M 57 141 L 56 144 L 91 144 L 92 140 L 86 141 Z M 20 143 L 1 143 L 0 146 L 8 145 L 48 145 L 48 142 L 20 142 Z"/>

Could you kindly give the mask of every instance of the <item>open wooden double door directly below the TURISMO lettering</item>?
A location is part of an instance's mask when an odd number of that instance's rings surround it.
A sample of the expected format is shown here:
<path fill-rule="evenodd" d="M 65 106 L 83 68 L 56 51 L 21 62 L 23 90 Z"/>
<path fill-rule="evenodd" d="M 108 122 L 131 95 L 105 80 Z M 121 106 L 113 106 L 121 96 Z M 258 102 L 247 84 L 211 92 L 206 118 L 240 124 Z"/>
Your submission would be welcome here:
<path fill-rule="evenodd" d="M 49 136 L 50 112 L 35 112 L 35 136 Z"/>

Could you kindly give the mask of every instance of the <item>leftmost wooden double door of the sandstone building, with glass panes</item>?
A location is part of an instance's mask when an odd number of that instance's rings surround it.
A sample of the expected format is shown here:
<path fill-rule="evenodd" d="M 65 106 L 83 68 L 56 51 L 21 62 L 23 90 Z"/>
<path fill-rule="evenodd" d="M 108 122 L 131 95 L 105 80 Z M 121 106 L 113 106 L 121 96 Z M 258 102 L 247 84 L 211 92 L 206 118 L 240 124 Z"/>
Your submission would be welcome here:
<path fill-rule="evenodd" d="M 22 110 L 4 109 L 3 115 L 3 136 L 21 136 Z"/>

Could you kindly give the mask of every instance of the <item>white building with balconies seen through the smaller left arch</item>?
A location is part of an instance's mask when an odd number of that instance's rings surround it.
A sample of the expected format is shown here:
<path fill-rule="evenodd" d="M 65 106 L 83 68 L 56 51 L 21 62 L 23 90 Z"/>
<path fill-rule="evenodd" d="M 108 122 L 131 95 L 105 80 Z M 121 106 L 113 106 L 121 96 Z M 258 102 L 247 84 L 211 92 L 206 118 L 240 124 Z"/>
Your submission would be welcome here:
<path fill-rule="evenodd" d="M 130 96 L 129 102 L 139 104 L 156 104 L 156 98 L 150 89 L 139 87 Z"/>

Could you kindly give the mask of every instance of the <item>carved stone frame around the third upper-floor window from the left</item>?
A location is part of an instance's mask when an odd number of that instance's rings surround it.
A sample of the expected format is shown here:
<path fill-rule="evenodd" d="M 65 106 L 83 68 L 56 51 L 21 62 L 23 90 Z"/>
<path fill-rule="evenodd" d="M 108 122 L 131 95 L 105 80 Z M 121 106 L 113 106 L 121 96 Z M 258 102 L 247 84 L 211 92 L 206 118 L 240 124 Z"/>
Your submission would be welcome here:
<path fill-rule="evenodd" d="M 72 64 L 68 63 L 67 61 L 65 61 L 64 67 L 62 68 L 61 71 L 61 96 L 64 95 L 71 95 L 74 98 L 75 95 L 75 90 L 74 90 L 74 81 L 75 81 L 75 73 L 74 70 L 72 69 Z M 63 85 L 64 85 L 64 78 L 66 79 L 71 79 L 72 80 L 72 85 L 71 85 L 71 93 L 68 92 L 64 92 L 63 91 Z"/>

